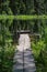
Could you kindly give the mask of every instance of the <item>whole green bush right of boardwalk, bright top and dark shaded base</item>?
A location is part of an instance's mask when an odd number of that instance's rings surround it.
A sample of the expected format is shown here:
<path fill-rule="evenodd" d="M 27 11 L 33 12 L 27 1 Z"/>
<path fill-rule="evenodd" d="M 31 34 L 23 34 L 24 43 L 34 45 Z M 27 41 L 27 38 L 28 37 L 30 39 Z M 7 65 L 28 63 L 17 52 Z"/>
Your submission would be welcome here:
<path fill-rule="evenodd" d="M 33 53 L 36 60 L 36 72 L 47 72 L 47 49 L 44 41 L 32 42 Z"/>

